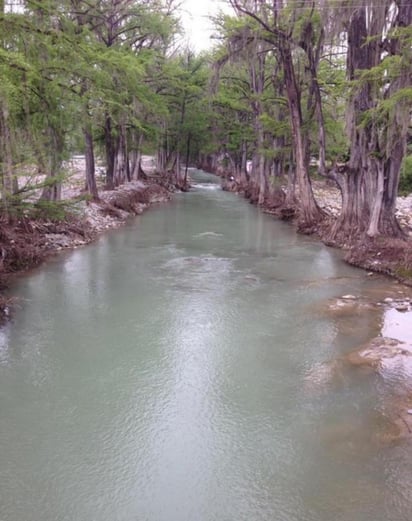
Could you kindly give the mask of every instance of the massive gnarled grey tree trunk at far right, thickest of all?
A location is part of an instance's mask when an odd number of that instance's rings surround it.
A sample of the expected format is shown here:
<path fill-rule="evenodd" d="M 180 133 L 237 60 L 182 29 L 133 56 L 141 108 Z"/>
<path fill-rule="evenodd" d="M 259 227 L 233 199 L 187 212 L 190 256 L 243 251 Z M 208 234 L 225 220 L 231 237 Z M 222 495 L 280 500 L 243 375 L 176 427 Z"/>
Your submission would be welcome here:
<path fill-rule="evenodd" d="M 412 22 L 412 1 L 398 7 L 395 25 Z M 348 28 L 347 70 L 349 80 L 358 80 L 357 71 L 369 70 L 382 60 L 381 38 L 387 31 L 385 5 L 356 9 Z M 399 40 L 390 40 L 392 54 L 400 54 Z M 353 236 L 402 237 L 396 220 L 396 197 L 399 171 L 406 150 L 409 109 L 398 103 L 384 124 L 365 114 L 376 110 L 382 95 L 390 98 L 399 89 L 411 84 L 410 61 L 403 60 L 401 73 L 386 93 L 373 80 L 355 83 L 348 107 L 348 134 L 351 143 L 349 165 L 339 185 L 342 191 L 342 212 L 332 228 L 331 238 Z"/>

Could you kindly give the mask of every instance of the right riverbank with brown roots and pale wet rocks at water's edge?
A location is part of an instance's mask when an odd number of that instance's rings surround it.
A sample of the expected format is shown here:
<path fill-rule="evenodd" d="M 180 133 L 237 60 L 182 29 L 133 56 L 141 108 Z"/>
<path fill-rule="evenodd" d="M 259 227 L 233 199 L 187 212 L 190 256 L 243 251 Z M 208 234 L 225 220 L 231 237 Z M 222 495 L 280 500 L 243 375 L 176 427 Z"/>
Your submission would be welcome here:
<path fill-rule="evenodd" d="M 223 180 L 223 188 L 245 195 L 236 188 L 234 182 Z M 412 194 L 398 197 L 397 219 L 405 233 L 405 240 L 383 239 L 368 240 L 355 244 L 344 244 L 328 240 L 331 223 L 341 211 L 341 197 L 337 188 L 326 181 L 314 181 L 313 192 L 319 207 L 326 214 L 324 223 L 312 231 L 329 246 L 342 249 L 344 259 L 349 264 L 373 273 L 388 275 L 401 284 L 393 284 L 392 289 L 383 296 L 369 295 L 361 298 L 355 295 L 343 295 L 325 303 L 325 308 L 317 310 L 329 318 L 346 319 L 350 334 L 359 320 L 374 313 L 383 318 L 379 327 L 379 336 L 369 339 L 353 351 L 338 359 L 326 361 L 308 375 L 308 390 L 312 386 L 325 390 L 331 385 L 345 381 L 353 371 L 375 373 L 383 385 L 396 381 L 391 392 L 382 395 L 383 419 L 388 423 L 383 433 L 377 434 L 377 442 L 396 443 L 412 439 Z M 263 205 L 262 210 L 277 218 L 289 219 L 277 208 Z M 292 217 L 293 219 L 293 217 Z M 396 282 L 394 281 L 394 282 Z M 409 287 L 408 287 L 409 286 Z M 392 317 L 385 326 L 385 317 Z M 355 347 L 355 346 L 354 346 Z"/>

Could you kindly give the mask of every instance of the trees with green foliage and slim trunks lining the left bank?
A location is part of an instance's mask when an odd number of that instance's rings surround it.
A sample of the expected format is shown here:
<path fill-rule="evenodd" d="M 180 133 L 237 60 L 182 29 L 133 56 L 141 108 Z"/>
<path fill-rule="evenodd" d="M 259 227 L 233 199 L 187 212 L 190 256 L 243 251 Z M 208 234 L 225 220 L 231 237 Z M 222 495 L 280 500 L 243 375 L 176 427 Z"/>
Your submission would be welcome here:
<path fill-rule="evenodd" d="M 58 201 L 65 160 L 75 153 L 85 155 L 94 199 L 96 157 L 108 188 L 144 176 L 146 149 L 158 155 L 160 171 L 184 183 L 181 155 L 186 161 L 200 146 L 191 104 L 207 76 L 201 60 L 179 47 L 177 6 L 0 0 L 3 217 L 24 211 L 34 191 L 42 192 L 36 204 Z"/>

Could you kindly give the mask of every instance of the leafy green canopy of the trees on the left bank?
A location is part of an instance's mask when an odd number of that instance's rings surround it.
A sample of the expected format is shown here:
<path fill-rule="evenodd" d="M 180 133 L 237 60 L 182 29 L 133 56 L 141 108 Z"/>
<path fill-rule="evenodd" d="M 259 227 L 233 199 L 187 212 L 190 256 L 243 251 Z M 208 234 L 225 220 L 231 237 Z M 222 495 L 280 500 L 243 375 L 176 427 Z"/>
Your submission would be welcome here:
<path fill-rule="evenodd" d="M 0 12 L 0 104 L 19 184 L 21 165 L 55 183 L 62 161 L 83 152 L 84 126 L 103 142 L 108 117 L 113 140 L 122 126 L 130 150 L 136 134 L 156 142 L 159 120 L 169 114 L 158 85 L 168 74 L 166 51 L 178 29 L 172 6 L 166 0 L 91 0 L 87 6 L 29 0 L 24 11 Z M 3 199 L 26 211 L 39 188 L 26 178 L 16 196 L 4 193 Z"/>

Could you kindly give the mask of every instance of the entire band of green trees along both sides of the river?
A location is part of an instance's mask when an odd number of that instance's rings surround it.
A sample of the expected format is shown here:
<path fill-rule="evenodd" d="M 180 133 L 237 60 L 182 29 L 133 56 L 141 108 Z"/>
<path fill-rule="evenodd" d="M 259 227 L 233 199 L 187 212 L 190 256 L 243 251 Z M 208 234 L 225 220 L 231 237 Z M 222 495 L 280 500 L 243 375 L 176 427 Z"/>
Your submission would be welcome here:
<path fill-rule="evenodd" d="M 175 0 L 0 0 L 2 216 L 39 187 L 58 200 L 73 153 L 97 199 L 96 157 L 111 188 L 144 177 L 146 152 L 180 187 L 198 164 L 306 230 L 326 220 L 311 176 L 329 178 L 343 202 L 331 242 L 403 237 L 412 0 L 226 7 L 195 55 L 177 44 Z"/>

